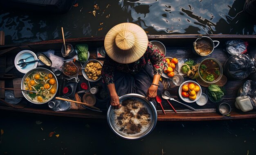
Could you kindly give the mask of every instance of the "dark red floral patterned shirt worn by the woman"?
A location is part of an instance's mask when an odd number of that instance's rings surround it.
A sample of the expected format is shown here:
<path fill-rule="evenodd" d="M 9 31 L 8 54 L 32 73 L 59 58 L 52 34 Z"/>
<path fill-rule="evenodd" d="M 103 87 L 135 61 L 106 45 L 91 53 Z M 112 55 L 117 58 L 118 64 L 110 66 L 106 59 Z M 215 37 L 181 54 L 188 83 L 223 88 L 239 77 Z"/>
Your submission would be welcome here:
<path fill-rule="evenodd" d="M 148 63 L 152 63 L 154 68 L 154 75 L 162 75 L 164 70 L 167 70 L 168 64 L 164 55 L 159 51 L 159 49 L 154 46 L 151 42 L 148 42 L 148 48 L 144 55 L 137 61 L 133 63 L 118 63 L 112 60 L 108 55 L 105 57 L 103 67 L 101 70 L 102 82 L 107 85 L 115 83 L 114 73 L 115 70 L 121 72 L 136 74 L 141 68 Z"/>

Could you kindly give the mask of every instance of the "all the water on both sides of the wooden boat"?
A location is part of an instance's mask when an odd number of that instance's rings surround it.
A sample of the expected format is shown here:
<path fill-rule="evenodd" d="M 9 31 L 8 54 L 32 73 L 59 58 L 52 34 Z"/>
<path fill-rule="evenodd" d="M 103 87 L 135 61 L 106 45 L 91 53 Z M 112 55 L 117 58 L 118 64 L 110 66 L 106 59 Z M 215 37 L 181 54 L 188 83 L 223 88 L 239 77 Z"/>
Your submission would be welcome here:
<path fill-rule="evenodd" d="M 121 22 L 148 34 L 256 34 L 256 20 L 244 0 L 78 0 L 64 15 L 0 11 L 6 44 L 104 36 Z M 98 4 L 96 17 L 92 15 Z M 110 4 L 110 6 L 108 5 Z M 108 6 L 108 7 L 107 7 Z M 238 14 L 239 13 L 239 14 Z M 110 16 L 109 16 L 110 15 Z M 102 28 L 102 29 L 101 29 Z M 40 120 L 42 124 L 36 124 Z M 157 122 L 142 140 L 118 138 L 106 120 L 0 111 L 0 155 L 255 155 L 256 119 Z M 59 138 L 49 137 L 55 131 Z"/>

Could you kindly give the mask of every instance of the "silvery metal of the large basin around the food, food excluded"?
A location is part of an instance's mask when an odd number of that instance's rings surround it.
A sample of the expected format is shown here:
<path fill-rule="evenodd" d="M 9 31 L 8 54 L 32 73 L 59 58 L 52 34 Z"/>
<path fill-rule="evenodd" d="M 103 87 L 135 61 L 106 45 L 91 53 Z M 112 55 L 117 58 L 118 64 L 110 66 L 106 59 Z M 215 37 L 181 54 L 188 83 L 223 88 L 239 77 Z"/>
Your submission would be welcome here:
<path fill-rule="evenodd" d="M 120 131 L 119 128 L 121 128 L 121 125 L 117 125 L 117 122 L 115 121 L 115 117 L 117 117 L 115 114 L 115 111 L 118 109 L 113 109 L 112 106 L 110 106 L 108 108 L 108 114 L 107 114 L 108 125 L 109 125 L 110 129 L 119 137 L 127 139 L 127 140 L 137 140 L 137 139 L 145 137 L 151 131 L 153 131 L 153 129 L 155 128 L 155 125 L 157 123 L 157 111 L 152 102 L 149 102 L 148 100 L 146 100 L 145 96 L 142 96 L 139 94 L 126 94 L 126 95 L 119 97 L 120 104 L 122 104 L 122 101 L 127 98 L 139 100 L 141 103 L 143 103 L 144 107 L 146 107 L 148 109 L 151 121 L 150 121 L 149 125 L 147 126 L 147 128 L 145 128 L 142 132 L 139 132 L 136 134 L 127 134 L 127 133 Z M 119 127 L 117 127 L 117 126 L 119 126 Z"/>

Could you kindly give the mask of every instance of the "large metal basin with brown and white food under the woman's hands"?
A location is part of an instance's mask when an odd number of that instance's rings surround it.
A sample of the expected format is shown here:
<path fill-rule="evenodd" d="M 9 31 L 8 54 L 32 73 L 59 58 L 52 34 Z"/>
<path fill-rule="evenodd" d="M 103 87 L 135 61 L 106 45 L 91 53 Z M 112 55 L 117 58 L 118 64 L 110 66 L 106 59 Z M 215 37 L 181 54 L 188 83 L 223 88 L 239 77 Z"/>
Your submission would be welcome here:
<path fill-rule="evenodd" d="M 157 123 L 157 111 L 152 102 L 139 94 L 119 97 L 119 109 L 108 109 L 107 121 L 110 129 L 119 137 L 137 140 L 148 135 Z"/>

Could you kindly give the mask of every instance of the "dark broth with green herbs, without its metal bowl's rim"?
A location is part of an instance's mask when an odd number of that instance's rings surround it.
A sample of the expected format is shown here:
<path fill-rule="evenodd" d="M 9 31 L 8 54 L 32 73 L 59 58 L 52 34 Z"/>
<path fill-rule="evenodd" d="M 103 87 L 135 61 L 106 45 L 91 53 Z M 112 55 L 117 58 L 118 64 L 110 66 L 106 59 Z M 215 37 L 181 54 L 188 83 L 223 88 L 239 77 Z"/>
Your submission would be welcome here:
<path fill-rule="evenodd" d="M 200 76 L 205 81 L 214 81 L 220 76 L 220 66 L 214 60 L 208 59 L 201 63 L 199 68 Z"/>

